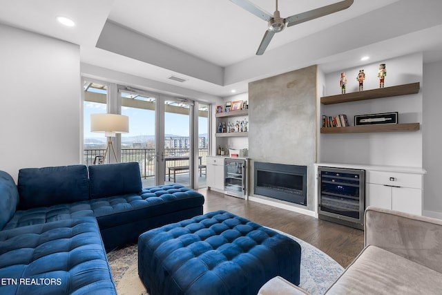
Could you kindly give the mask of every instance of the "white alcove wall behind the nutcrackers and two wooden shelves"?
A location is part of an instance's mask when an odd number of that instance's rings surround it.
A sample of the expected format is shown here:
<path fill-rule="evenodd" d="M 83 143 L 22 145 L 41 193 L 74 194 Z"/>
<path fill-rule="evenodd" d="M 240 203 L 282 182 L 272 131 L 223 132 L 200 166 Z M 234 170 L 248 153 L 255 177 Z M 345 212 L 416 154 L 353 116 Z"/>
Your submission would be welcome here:
<path fill-rule="evenodd" d="M 386 64 L 385 87 L 421 83 L 415 95 L 369 99 L 345 104 L 318 105 L 321 115 L 336 116 L 345 113 L 353 124 L 354 115 L 389 113 L 397 111 L 400 123 L 422 122 L 422 53 L 376 61 L 363 67 L 343 69 L 347 75 L 347 93 L 358 91 L 356 76 L 365 71 L 364 90 L 378 88 L 378 65 Z M 340 71 L 325 75 L 325 95 L 340 93 Z M 322 88 L 318 85 L 318 88 Z M 422 167 L 422 131 L 387 133 L 321 134 L 319 162 L 342 164 L 369 164 L 383 166 Z M 425 168 L 425 167 L 423 167 Z"/>

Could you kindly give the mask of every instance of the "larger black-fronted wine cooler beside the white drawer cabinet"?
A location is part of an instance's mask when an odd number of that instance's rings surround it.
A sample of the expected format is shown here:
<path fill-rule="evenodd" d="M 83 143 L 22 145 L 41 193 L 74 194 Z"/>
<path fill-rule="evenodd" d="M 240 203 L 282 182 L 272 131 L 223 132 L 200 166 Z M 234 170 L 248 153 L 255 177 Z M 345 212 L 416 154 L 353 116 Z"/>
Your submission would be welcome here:
<path fill-rule="evenodd" d="M 363 229 L 365 170 L 318 167 L 318 217 Z"/>

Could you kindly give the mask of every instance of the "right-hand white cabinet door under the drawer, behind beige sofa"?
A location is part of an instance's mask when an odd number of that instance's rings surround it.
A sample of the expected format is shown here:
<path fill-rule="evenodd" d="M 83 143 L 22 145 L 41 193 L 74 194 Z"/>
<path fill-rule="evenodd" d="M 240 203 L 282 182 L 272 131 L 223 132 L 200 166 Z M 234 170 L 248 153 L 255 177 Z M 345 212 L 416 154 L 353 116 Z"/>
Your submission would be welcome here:
<path fill-rule="evenodd" d="M 392 188 L 392 209 L 422 215 L 422 191 L 408 187 Z"/>

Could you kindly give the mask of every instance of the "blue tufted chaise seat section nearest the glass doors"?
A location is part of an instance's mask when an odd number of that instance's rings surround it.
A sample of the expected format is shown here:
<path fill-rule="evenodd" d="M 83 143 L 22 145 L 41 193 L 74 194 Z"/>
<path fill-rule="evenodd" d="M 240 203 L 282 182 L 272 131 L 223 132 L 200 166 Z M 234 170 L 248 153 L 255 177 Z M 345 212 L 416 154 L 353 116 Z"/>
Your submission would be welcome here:
<path fill-rule="evenodd" d="M 202 214 L 204 196 L 181 184 L 90 200 L 106 249 L 136 242 L 148 229 Z"/>

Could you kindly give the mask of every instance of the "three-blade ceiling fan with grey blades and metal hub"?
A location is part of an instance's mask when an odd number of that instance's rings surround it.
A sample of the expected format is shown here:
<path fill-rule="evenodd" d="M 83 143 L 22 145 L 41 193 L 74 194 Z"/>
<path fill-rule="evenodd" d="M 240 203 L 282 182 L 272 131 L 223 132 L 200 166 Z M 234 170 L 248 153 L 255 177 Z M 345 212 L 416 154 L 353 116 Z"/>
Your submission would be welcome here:
<path fill-rule="evenodd" d="M 330 15 L 334 12 L 345 10 L 352 6 L 354 0 L 340 1 L 334 4 L 316 8 L 314 10 L 302 12 L 298 15 L 292 15 L 291 17 L 287 17 L 285 19 L 280 17 L 280 13 L 278 10 L 278 0 L 276 0 L 276 10 L 275 12 L 273 12 L 273 15 L 271 15 L 269 12 L 266 12 L 265 10 L 262 10 L 262 8 L 259 8 L 258 6 L 247 0 L 230 1 L 253 13 L 253 15 L 256 15 L 260 19 L 264 19 L 265 21 L 269 22 L 269 28 L 267 28 L 267 31 L 262 38 L 261 44 L 258 47 L 258 51 L 256 51 L 256 55 L 262 55 L 265 52 L 267 46 L 269 46 L 273 35 L 275 35 L 276 32 L 284 30 L 286 25 L 287 27 L 291 27 L 297 25 L 298 23 L 311 21 L 311 19 L 317 19 L 318 17 L 324 17 L 325 15 Z"/>

